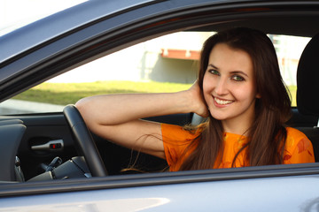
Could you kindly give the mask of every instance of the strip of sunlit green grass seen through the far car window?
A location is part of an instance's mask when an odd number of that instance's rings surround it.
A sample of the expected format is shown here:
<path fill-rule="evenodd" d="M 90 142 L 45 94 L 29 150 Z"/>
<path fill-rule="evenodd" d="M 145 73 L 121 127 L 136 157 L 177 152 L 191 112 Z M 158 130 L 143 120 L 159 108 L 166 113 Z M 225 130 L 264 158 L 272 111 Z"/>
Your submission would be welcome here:
<path fill-rule="evenodd" d="M 17 95 L 14 99 L 32 102 L 47 102 L 66 105 L 75 103 L 90 95 L 121 94 L 121 93 L 159 93 L 176 92 L 191 87 L 191 84 L 168 82 L 133 82 L 133 81 L 97 81 L 90 83 L 48 83 L 45 82 Z M 292 105 L 296 105 L 297 87 L 289 87 Z"/>

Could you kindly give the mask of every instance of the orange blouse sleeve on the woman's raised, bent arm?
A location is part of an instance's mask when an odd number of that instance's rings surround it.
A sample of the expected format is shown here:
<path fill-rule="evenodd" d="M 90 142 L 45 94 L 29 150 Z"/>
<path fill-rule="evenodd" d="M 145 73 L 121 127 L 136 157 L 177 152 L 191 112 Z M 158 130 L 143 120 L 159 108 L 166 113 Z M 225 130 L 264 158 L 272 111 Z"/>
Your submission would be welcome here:
<path fill-rule="evenodd" d="M 192 140 L 198 137 L 198 133 L 191 133 L 179 125 L 161 124 L 162 139 L 167 164 L 171 171 L 179 170 L 185 158 L 191 150 L 184 154 Z"/>

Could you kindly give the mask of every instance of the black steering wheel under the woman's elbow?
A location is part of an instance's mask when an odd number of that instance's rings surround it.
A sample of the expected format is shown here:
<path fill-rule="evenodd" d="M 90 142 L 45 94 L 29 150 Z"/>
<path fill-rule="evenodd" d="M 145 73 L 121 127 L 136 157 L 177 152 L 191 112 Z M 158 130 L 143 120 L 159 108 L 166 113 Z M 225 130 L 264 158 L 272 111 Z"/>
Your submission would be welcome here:
<path fill-rule="evenodd" d="M 92 177 L 107 176 L 107 170 L 105 169 L 101 155 L 99 155 L 97 146 L 79 110 L 76 109 L 75 105 L 69 104 L 66 105 L 63 113 L 89 166 Z"/>

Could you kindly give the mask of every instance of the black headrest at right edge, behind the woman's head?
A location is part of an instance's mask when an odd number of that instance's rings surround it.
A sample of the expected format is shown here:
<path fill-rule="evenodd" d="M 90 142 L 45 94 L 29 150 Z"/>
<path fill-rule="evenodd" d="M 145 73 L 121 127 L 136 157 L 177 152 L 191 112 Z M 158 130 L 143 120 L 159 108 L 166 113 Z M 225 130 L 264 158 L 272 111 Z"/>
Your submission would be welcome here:
<path fill-rule="evenodd" d="M 319 116 L 319 34 L 302 52 L 297 69 L 297 107 L 304 115 Z"/>

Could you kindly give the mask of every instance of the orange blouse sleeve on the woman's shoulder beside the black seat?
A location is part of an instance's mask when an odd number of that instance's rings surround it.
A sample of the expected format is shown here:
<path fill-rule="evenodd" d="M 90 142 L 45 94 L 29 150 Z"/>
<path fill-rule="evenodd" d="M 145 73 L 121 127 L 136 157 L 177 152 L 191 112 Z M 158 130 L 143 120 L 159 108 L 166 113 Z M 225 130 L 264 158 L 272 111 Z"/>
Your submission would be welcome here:
<path fill-rule="evenodd" d="M 284 149 L 284 164 L 315 163 L 314 148 L 304 133 L 287 127 L 287 140 Z"/>

